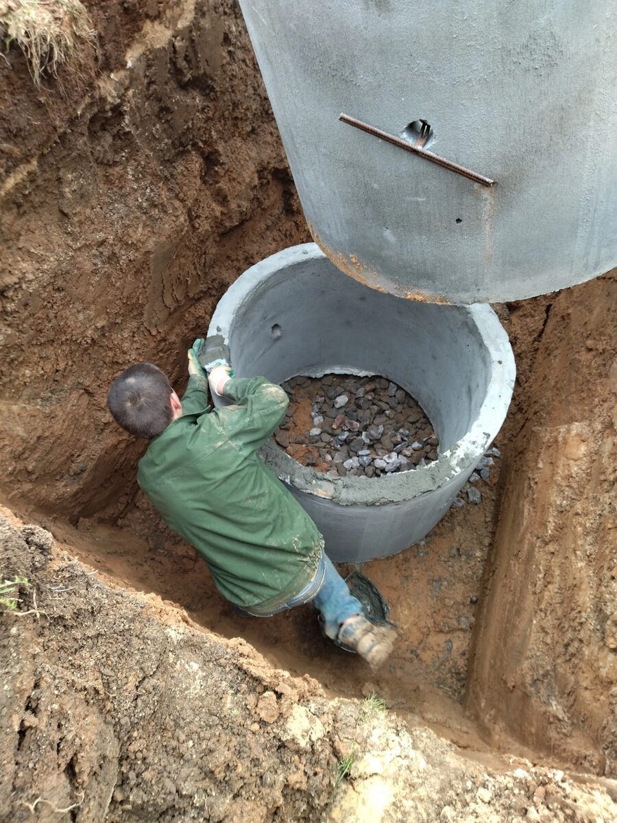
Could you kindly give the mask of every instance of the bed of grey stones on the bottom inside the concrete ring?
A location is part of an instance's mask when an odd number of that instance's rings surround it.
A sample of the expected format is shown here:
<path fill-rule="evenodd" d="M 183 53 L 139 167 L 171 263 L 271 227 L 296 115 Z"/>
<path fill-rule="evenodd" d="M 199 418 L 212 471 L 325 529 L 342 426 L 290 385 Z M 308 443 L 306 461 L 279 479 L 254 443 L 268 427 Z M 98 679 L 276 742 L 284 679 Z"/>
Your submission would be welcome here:
<path fill-rule="evenodd" d="M 382 477 L 438 458 L 429 418 L 404 388 L 373 374 L 292 377 L 276 442 L 304 466 L 332 477 Z"/>

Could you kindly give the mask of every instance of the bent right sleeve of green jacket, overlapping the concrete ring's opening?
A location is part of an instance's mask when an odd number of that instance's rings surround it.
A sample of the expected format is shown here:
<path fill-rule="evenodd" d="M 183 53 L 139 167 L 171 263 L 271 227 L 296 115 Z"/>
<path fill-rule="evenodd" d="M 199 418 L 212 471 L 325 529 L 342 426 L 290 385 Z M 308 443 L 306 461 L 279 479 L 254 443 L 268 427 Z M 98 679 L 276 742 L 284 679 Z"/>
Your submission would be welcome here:
<path fill-rule="evenodd" d="M 232 377 L 225 384 L 225 397 L 236 407 L 216 412 L 225 435 L 247 451 L 256 451 L 279 425 L 290 404 L 289 398 L 265 377 Z"/>

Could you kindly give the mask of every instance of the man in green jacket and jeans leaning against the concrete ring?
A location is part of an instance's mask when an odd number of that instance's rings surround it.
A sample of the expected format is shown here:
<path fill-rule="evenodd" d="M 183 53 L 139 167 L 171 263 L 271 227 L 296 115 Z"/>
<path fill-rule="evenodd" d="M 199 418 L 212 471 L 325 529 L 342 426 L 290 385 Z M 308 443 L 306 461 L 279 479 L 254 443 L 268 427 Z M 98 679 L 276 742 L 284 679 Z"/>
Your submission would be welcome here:
<path fill-rule="evenodd" d="M 313 601 L 325 634 L 378 667 L 396 630 L 362 614 L 317 527 L 257 454 L 285 416 L 287 395 L 264 377 L 231 376 L 225 360 L 210 365 L 206 379 L 195 348 L 188 351 L 181 400 L 149 363 L 114 380 L 108 396 L 114 420 L 151 440 L 137 470 L 139 486 L 197 549 L 235 607 L 267 617 Z M 208 405 L 208 384 L 234 403 Z"/>

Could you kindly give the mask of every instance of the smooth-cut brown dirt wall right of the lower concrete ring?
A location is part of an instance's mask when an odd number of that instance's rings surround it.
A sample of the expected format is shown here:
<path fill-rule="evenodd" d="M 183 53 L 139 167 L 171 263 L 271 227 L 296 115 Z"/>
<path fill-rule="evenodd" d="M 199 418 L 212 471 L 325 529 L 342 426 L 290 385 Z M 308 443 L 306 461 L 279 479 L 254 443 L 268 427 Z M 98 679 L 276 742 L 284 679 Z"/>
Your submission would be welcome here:
<path fill-rule="evenodd" d="M 476 618 L 467 705 L 617 774 L 617 272 L 547 305 Z"/>

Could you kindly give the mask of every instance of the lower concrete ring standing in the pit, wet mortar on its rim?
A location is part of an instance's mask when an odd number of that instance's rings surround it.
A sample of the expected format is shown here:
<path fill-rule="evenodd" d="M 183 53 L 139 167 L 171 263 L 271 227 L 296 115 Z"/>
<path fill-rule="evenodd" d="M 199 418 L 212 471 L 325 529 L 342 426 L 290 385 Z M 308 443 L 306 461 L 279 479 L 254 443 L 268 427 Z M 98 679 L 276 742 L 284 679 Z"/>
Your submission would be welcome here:
<path fill-rule="evenodd" d="M 273 254 L 226 292 L 209 335 L 230 344 L 237 374 L 382 374 L 424 408 L 437 461 L 367 479 L 301 466 L 273 441 L 272 470 L 308 511 L 334 560 L 369 560 L 420 540 L 448 511 L 499 431 L 515 366 L 489 306 L 400 300 L 350 280 L 316 244 Z"/>

